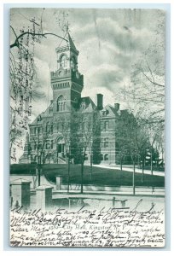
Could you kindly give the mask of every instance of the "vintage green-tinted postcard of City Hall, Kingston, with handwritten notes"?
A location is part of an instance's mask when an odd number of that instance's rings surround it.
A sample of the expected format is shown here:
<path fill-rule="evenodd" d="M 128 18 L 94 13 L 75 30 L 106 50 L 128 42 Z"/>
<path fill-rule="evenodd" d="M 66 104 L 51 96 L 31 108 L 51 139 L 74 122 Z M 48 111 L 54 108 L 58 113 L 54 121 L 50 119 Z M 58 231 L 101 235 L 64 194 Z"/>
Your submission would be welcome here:
<path fill-rule="evenodd" d="M 165 247 L 165 11 L 10 10 L 11 247 Z"/>

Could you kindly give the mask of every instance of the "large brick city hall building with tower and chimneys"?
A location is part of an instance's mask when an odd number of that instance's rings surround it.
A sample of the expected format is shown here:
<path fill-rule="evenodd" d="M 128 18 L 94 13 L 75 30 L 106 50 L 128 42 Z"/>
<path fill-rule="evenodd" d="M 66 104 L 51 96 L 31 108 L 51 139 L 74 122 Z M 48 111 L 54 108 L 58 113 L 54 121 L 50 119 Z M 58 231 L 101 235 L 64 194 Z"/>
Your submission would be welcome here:
<path fill-rule="evenodd" d="M 89 96 L 81 96 L 85 86 L 84 76 L 78 72 L 78 49 L 69 33 L 66 44 L 56 48 L 55 52 L 57 70 L 50 73 L 53 99 L 49 107 L 29 125 L 30 131 L 20 163 L 65 163 L 67 154 L 71 155 L 72 162 L 78 163 L 79 154 L 83 154 L 79 148 L 86 130 L 84 127 L 84 133 L 78 136 L 74 112 L 81 113 L 87 122 L 89 116 L 93 118 L 94 127 L 90 129 L 93 134 L 90 134 L 90 142 L 85 144 L 84 160 L 92 160 L 96 164 L 117 163 L 116 124 L 126 110 L 120 110 L 119 103 L 104 107 L 103 95 L 100 93 L 96 95 L 96 102 Z"/>

